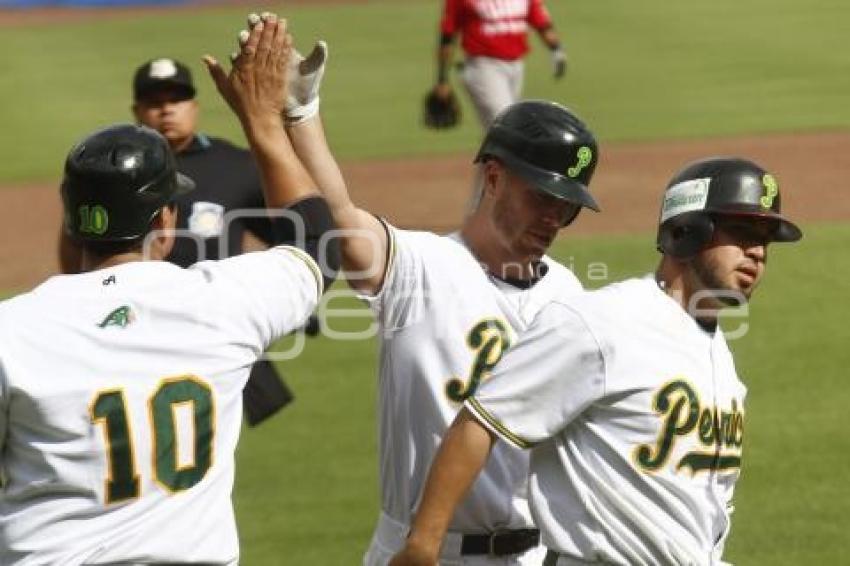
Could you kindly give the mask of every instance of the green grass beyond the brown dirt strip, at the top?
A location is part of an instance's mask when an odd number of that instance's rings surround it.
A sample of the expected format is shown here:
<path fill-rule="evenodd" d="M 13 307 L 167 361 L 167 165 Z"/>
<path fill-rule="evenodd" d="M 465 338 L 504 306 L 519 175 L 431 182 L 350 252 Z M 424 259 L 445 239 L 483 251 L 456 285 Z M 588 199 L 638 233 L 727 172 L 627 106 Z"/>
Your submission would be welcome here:
<path fill-rule="evenodd" d="M 850 126 L 844 0 L 549 4 L 570 69 L 563 82 L 552 80 L 533 39 L 525 94 L 573 107 L 603 142 Z M 437 0 L 285 6 L 276 7 L 302 49 L 317 38 L 330 44 L 323 113 L 341 157 L 468 152 L 475 144 L 468 106 L 455 131 L 419 124 L 434 74 Z M 132 71 L 154 56 L 190 63 L 203 126 L 240 139 L 200 57 L 226 60 L 246 10 L 3 28 L 0 115 L 14 135 L 0 138 L 0 184 L 55 179 L 84 132 L 128 120 Z"/>

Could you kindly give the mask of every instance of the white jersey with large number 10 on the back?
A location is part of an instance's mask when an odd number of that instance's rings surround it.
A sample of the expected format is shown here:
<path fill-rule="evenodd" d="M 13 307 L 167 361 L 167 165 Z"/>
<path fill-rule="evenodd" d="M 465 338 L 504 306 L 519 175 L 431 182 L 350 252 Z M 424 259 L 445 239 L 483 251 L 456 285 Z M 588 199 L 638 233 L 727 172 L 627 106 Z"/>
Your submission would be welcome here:
<path fill-rule="evenodd" d="M 0 564 L 235 564 L 242 387 L 321 285 L 280 247 L 60 275 L 0 305 Z"/>

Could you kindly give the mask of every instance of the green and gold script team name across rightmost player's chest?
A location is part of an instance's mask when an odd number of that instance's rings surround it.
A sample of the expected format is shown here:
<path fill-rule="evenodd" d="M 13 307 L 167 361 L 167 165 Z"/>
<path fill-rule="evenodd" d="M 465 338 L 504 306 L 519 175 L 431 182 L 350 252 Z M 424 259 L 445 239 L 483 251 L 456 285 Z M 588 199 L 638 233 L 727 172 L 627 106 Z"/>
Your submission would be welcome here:
<path fill-rule="evenodd" d="M 639 468 L 659 470 L 669 460 L 676 442 L 690 434 L 695 434 L 709 450 L 685 454 L 676 464 L 676 471 L 689 468 L 696 474 L 740 467 L 744 414 L 736 399 L 732 399 L 728 411 L 703 406 L 696 389 L 685 378 L 677 377 L 656 393 L 653 409 L 662 418 L 661 431 L 654 445 L 635 448 L 633 457 Z"/>

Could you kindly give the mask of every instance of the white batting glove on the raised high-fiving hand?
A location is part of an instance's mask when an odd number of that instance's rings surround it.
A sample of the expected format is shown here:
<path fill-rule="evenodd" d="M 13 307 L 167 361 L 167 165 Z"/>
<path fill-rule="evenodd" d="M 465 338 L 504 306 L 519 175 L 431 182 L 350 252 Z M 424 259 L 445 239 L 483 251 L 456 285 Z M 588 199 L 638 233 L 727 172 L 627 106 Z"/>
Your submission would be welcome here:
<path fill-rule="evenodd" d="M 287 125 L 308 120 L 319 113 L 319 87 L 328 61 L 328 44 L 317 41 L 307 57 L 294 51 L 287 69 L 286 107 L 283 114 Z"/>

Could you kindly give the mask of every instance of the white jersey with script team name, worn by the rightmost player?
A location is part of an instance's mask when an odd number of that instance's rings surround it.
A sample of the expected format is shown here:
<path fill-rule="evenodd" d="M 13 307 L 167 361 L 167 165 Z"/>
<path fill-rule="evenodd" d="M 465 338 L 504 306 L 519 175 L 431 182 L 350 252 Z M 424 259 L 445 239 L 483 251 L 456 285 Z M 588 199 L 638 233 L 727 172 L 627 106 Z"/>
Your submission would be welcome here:
<path fill-rule="evenodd" d="M 746 389 L 722 332 L 652 277 L 546 306 L 466 406 L 531 451 L 543 543 L 606 564 L 717 564 Z"/>

